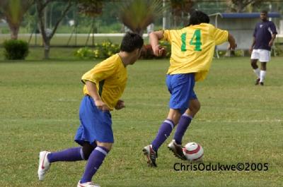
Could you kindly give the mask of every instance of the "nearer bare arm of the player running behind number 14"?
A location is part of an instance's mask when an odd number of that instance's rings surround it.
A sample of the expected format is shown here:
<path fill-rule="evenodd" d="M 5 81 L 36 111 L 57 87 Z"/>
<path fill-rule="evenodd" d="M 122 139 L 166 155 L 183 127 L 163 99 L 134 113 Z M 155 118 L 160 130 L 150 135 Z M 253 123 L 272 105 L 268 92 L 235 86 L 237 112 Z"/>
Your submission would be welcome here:
<path fill-rule="evenodd" d="M 89 95 L 93 98 L 98 109 L 103 111 L 109 110 L 108 106 L 101 100 L 100 96 L 98 95 L 96 83 L 86 81 L 86 88 L 88 89 Z"/>

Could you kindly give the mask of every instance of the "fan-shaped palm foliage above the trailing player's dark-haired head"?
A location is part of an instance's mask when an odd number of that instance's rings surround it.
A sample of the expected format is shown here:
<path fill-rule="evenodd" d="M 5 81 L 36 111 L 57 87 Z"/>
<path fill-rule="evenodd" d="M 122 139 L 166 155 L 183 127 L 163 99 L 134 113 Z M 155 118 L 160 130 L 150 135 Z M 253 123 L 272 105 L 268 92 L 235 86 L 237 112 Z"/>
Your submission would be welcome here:
<path fill-rule="evenodd" d="M 132 32 L 142 35 L 146 27 L 163 13 L 161 0 L 131 0 L 120 4 L 120 20 Z"/>

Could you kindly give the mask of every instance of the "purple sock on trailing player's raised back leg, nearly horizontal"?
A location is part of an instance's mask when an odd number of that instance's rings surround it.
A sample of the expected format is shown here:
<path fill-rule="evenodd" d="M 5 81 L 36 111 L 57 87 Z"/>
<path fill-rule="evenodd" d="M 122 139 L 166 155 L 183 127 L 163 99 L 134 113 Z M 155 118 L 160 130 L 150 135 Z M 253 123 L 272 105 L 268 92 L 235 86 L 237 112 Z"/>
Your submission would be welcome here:
<path fill-rule="evenodd" d="M 81 147 L 73 147 L 60 152 L 51 152 L 47 155 L 50 163 L 58 161 L 79 161 L 83 159 L 83 150 Z"/>

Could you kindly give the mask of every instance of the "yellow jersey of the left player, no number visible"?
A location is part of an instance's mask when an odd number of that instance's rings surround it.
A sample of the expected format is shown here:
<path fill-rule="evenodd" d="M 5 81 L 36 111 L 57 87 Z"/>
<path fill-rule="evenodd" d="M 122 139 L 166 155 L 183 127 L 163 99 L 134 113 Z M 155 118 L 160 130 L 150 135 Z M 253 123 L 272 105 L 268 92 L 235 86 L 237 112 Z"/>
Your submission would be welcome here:
<path fill-rule="evenodd" d="M 86 83 L 86 80 L 96 83 L 100 98 L 112 110 L 125 90 L 127 68 L 122 63 L 120 56 L 114 54 L 86 72 L 81 81 Z M 86 85 L 83 87 L 83 94 L 88 95 Z"/>

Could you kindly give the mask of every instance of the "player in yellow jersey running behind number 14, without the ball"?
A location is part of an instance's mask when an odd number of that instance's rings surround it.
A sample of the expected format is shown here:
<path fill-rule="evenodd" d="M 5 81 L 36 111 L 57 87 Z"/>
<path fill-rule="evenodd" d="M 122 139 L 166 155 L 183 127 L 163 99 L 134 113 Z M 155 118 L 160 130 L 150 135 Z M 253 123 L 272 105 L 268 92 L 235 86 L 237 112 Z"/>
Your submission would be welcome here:
<path fill-rule="evenodd" d="M 127 82 L 127 66 L 139 58 L 144 40 L 137 34 L 127 32 L 120 52 L 100 62 L 81 78 L 84 97 L 79 109 L 81 125 L 75 141 L 79 147 L 60 152 L 40 152 L 38 177 L 44 179 L 50 164 L 64 161 L 88 160 L 78 187 L 97 187 L 91 182 L 114 143 L 112 133 L 112 109 L 122 109 L 125 104 L 120 97 Z"/>

